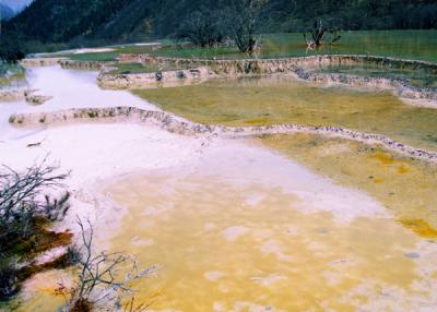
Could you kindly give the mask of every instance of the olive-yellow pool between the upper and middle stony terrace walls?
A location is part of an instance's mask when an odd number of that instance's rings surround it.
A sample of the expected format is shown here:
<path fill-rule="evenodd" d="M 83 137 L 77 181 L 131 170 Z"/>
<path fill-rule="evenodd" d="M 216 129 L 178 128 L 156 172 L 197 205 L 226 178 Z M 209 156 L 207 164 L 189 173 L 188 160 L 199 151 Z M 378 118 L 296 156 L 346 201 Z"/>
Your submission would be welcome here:
<path fill-rule="evenodd" d="M 286 76 L 271 76 L 210 81 L 134 94 L 202 123 L 338 125 L 437 151 L 437 109 L 403 104 L 388 92 L 323 88 Z"/>

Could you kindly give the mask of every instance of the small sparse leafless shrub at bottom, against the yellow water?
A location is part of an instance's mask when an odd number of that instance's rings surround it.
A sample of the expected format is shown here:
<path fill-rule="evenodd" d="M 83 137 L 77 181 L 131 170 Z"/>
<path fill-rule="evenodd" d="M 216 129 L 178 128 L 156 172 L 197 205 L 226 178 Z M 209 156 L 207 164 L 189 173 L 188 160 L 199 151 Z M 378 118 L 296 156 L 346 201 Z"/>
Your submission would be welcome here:
<path fill-rule="evenodd" d="M 93 253 L 93 226 L 87 220 L 88 229 L 86 230 L 80 218 L 78 218 L 78 224 L 81 228 L 83 245 L 78 249 L 79 281 L 69 291 L 69 309 L 71 311 L 90 311 L 93 304 L 119 291 L 130 292 L 131 289 L 128 286 L 130 281 L 155 272 L 155 266 L 140 271 L 137 261 L 122 252 L 103 251 L 95 255 Z M 120 272 L 127 273 L 121 275 Z M 134 308 L 131 302 L 127 309 L 140 311 L 145 307 L 142 304 Z"/>

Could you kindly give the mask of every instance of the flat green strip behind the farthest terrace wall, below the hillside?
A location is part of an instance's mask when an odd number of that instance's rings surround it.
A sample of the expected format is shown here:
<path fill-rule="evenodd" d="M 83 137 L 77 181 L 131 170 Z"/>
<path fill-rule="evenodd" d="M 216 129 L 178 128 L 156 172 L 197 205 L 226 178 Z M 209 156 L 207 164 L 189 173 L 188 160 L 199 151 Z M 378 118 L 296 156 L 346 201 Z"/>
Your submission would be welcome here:
<path fill-rule="evenodd" d="M 437 62 L 437 31 L 368 31 L 343 32 L 338 45 L 307 50 L 302 34 L 264 34 L 260 36 L 262 51 L 240 53 L 233 47 L 177 48 L 164 46 L 155 56 L 180 58 L 287 58 L 315 55 L 373 55 Z"/>

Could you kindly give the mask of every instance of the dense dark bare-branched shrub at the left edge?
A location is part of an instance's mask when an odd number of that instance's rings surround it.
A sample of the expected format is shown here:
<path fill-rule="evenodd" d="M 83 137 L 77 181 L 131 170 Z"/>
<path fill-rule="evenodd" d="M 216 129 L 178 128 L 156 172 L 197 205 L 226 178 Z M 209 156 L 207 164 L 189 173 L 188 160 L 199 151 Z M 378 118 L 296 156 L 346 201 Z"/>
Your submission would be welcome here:
<path fill-rule="evenodd" d="M 49 248 L 47 239 L 58 237 L 42 227 L 61 219 L 70 207 L 69 193 L 60 199 L 43 194 L 60 187 L 67 178 L 45 160 L 24 172 L 5 166 L 0 169 L 0 299 L 17 291 L 20 283 L 32 273 L 26 267 L 19 268 L 19 261 Z M 70 239 L 69 235 L 64 237 Z"/>

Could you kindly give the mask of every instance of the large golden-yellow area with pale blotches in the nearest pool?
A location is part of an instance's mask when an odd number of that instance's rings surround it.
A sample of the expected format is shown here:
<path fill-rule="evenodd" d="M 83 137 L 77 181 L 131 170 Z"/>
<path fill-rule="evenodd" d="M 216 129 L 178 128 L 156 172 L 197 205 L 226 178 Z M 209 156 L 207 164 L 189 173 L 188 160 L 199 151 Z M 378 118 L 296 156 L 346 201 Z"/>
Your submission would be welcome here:
<path fill-rule="evenodd" d="M 177 169 L 107 191 L 128 208 L 110 249 L 161 265 L 135 285 L 153 311 L 414 311 L 434 291 L 408 256 L 421 238 L 390 217 L 338 221 L 277 185 Z"/>

